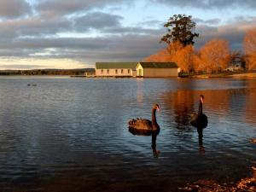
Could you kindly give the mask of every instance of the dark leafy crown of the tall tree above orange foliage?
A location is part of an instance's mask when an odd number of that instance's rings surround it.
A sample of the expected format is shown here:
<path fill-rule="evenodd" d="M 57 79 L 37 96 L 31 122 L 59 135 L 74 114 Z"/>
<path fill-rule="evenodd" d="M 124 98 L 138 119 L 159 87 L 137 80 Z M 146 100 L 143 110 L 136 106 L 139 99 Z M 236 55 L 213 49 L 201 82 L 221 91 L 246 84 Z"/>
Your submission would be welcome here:
<path fill-rule="evenodd" d="M 167 33 L 164 35 L 160 42 L 171 44 L 172 42 L 179 41 L 183 46 L 195 44 L 194 38 L 199 36 L 195 32 L 195 21 L 189 15 L 173 15 L 165 24 Z"/>

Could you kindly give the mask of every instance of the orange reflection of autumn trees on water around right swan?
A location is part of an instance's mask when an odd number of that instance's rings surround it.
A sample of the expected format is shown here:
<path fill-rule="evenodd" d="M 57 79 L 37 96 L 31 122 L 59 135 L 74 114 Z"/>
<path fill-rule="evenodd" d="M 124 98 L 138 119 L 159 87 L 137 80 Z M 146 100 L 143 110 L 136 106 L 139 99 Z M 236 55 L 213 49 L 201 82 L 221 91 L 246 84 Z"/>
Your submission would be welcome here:
<path fill-rule="evenodd" d="M 256 102 L 254 102 L 256 89 L 254 88 L 255 83 L 253 83 L 254 81 L 247 82 L 245 80 L 241 86 L 247 86 L 247 88 L 224 90 L 181 89 L 166 93 L 163 98 L 166 109 L 170 111 L 170 127 L 172 129 L 170 131 L 181 138 L 191 136 L 189 133 L 195 130 L 189 124 L 190 114 L 197 111 L 198 97 L 200 95 L 204 95 L 207 98 L 205 108 L 210 119 L 212 116 L 215 119 L 219 116 L 237 117 L 246 123 L 256 125 L 256 119 L 252 118 L 256 108 Z M 243 99 L 237 100 L 241 96 L 243 96 Z M 232 111 L 231 115 L 230 111 Z M 197 128 L 197 132 L 199 151 L 204 154 L 203 129 Z"/>

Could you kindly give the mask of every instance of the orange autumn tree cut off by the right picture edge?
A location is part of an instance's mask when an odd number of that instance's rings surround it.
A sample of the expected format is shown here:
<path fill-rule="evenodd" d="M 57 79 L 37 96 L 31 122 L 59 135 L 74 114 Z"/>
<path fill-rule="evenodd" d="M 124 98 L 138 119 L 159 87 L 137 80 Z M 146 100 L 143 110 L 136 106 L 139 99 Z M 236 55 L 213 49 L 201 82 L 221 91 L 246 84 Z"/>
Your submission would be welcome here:
<path fill-rule="evenodd" d="M 246 33 L 243 49 L 247 55 L 247 69 L 256 69 L 256 28 Z"/>

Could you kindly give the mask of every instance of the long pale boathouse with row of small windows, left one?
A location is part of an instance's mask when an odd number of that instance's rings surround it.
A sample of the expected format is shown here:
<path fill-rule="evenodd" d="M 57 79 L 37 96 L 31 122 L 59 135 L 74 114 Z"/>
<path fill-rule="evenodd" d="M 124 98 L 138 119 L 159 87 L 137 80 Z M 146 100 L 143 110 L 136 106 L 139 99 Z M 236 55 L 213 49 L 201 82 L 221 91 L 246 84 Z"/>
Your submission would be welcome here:
<path fill-rule="evenodd" d="M 136 77 L 137 62 L 96 62 L 96 77 Z"/>

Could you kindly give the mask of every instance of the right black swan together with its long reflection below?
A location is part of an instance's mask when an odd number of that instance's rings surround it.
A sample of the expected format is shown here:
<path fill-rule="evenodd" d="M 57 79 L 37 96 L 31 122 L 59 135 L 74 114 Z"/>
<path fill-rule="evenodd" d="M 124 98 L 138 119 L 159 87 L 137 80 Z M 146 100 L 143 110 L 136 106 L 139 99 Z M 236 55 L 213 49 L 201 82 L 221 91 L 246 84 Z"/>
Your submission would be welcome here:
<path fill-rule="evenodd" d="M 204 96 L 201 95 L 200 101 L 199 101 L 198 113 L 192 113 L 191 119 L 190 119 L 190 124 L 195 126 L 197 129 L 200 154 L 205 154 L 206 152 L 203 146 L 202 137 L 203 137 L 203 129 L 206 128 L 208 125 L 207 115 L 202 113 L 203 103 L 204 103 Z"/>

